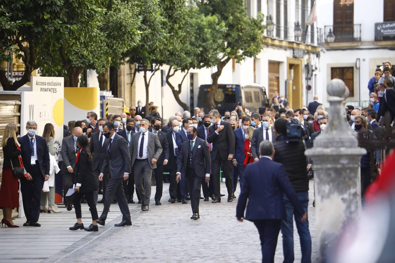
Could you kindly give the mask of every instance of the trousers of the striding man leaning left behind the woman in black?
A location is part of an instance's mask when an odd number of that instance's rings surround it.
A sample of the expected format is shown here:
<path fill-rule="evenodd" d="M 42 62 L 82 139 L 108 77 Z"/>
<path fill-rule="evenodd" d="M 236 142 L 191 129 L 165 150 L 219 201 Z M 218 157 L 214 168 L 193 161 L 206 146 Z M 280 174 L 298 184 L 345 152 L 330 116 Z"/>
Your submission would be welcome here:
<path fill-rule="evenodd" d="M 128 202 L 126 201 L 125 192 L 123 190 L 123 178 L 113 178 L 111 177 L 107 189 L 105 191 L 105 200 L 103 213 L 100 216 L 104 220 L 107 218 L 108 210 L 110 209 L 111 200 L 117 198 L 119 209 L 122 212 L 122 220 L 130 221 L 130 211 L 128 207 Z"/>

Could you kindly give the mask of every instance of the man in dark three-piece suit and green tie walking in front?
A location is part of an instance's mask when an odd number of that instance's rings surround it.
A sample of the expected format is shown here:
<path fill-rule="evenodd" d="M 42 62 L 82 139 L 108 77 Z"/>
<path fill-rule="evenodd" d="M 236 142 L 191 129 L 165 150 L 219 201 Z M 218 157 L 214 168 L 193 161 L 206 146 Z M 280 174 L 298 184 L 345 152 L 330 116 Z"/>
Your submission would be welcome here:
<path fill-rule="evenodd" d="M 190 191 L 192 216 L 191 219 L 199 219 L 199 198 L 201 181 L 210 181 L 210 152 L 207 142 L 197 137 L 196 127 L 188 128 L 188 140 L 181 146 L 178 166 L 177 181 L 181 180 L 181 171 L 188 184 Z"/>

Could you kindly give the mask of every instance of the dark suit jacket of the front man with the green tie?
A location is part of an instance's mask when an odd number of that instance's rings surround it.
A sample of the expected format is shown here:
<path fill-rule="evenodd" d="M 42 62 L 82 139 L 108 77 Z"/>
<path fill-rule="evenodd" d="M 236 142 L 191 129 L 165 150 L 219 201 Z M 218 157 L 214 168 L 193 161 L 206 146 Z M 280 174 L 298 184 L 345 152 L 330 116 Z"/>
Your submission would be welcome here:
<path fill-rule="evenodd" d="M 189 161 L 188 153 L 190 140 L 185 141 L 180 149 L 177 163 L 177 172 L 186 174 L 186 164 Z M 194 148 L 192 149 L 192 163 L 194 170 L 199 177 L 205 177 L 206 173 L 211 173 L 210 151 L 207 142 L 196 136 Z"/>

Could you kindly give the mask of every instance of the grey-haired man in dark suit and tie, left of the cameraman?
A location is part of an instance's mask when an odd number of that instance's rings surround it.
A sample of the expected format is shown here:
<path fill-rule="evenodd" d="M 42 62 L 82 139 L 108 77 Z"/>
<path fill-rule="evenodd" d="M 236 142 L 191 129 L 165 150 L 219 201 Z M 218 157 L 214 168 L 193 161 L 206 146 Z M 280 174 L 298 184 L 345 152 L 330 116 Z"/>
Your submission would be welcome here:
<path fill-rule="evenodd" d="M 259 160 L 259 144 L 262 141 L 276 141 L 276 133 L 273 129 L 274 127 L 270 124 L 269 114 L 264 114 L 262 116 L 262 123 L 262 127 L 260 127 L 259 129 L 255 129 L 252 133 L 251 152 L 252 158 L 254 158 L 255 162 Z"/>

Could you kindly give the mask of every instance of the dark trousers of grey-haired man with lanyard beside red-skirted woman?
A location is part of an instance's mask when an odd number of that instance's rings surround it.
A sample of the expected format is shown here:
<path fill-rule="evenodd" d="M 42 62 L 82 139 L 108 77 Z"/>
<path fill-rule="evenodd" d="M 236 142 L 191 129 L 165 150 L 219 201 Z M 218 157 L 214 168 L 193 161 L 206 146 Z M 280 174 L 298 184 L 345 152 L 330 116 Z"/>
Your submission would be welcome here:
<path fill-rule="evenodd" d="M 33 180 L 28 181 L 25 177 L 21 178 L 23 210 L 26 221 L 37 222 L 40 216 L 41 192 L 44 186 L 44 177 L 38 164 L 31 166 L 28 171 Z"/>

